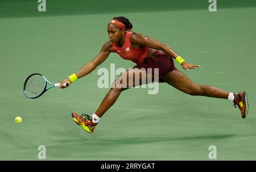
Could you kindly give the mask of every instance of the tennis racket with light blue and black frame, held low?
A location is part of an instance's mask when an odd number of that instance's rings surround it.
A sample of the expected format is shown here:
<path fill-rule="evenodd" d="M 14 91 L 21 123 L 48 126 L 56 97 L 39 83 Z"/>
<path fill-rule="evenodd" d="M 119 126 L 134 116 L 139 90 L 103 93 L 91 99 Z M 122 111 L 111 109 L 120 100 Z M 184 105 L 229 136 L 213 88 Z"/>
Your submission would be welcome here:
<path fill-rule="evenodd" d="M 23 93 L 27 98 L 35 99 L 46 93 L 47 90 L 59 86 L 60 83 L 49 82 L 44 75 L 34 73 L 29 75 L 24 82 Z M 68 87 L 68 83 L 65 86 Z"/>

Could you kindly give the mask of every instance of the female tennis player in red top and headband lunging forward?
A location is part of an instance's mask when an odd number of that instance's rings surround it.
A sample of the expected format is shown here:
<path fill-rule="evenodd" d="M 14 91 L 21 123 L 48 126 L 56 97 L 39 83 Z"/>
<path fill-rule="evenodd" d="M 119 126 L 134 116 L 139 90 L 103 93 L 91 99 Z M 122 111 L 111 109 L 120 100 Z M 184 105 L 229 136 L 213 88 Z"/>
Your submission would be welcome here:
<path fill-rule="evenodd" d="M 70 75 L 61 82 L 60 88 L 63 89 L 65 88 L 65 83 L 69 83 L 70 85 L 78 78 L 84 77 L 104 62 L 111 52 L 118 53 L 123 59 L 131 60 L 137 64 L 134 68 L 130 69 L 133 70 L 132 72 L 127 70 L 115 80 L 108 94 L 106 94 L 100 106 L 92 116 L 86 114 L 80 116 L 72 112 L 72 118 L 76 124 L 92 133 L 102 115 L 115 103 L 123 90 L 141 85 L 142 81 L 145 81 L 143 79 L 148 77 L 152 77 L 152 79 L 147 79 L 147 83 L 150 83 L 149 80 L 154 82 L 154 69 L 158 69 L 159 71 L 159 82 L 166 82 L 189 95 L 201 95 L 232 100 L 234 107 L 238 106 L 240 108 L 242 118 L 246 117 L 249 104 L 245 91 L 230 93 L 213 86 L 199 85 L 192 82 L 187 75 L 175 68 L 173 58 L 185 70 L 198 69 L 200 65 L 189 64 L 167 45 L 151 37 L 135 33 L 131 31 L 131 28 L 133 28 L 133 25 L 129 22 L 129 19 L 123 16 L 113 18 L 108 24 L 108 36 L 110 41 L 102 46 L 100 53 L 92 61 L 85 64 L 77 73 Z M 149 72 L 151 71 L 148 70 L 150 68 L 152 72 Z M 135 75 L 139 75 L 139 77 L 137 77 L 138 79 L 135 79 Z"/>

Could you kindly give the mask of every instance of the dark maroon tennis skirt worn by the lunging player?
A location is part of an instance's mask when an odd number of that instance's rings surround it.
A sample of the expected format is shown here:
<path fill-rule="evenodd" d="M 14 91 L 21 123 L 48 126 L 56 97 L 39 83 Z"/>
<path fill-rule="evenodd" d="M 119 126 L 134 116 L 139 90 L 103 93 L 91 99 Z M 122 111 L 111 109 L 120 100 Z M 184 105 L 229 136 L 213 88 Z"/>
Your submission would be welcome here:
<path fill-rule="evenodd" d="M 146 71 L 148 68 L 151 68 L 153 75 L 155 74 L 154 69 L 158 68 L 159 78 L 163 77 L 172 70 L 177 69 L 174 65 L 173 58 L 169 54 L 160 50 L 156 50 L 151 56 L 146 57 L 141 63 L 134 66 L 134 68 L 144 68 Z"/>

